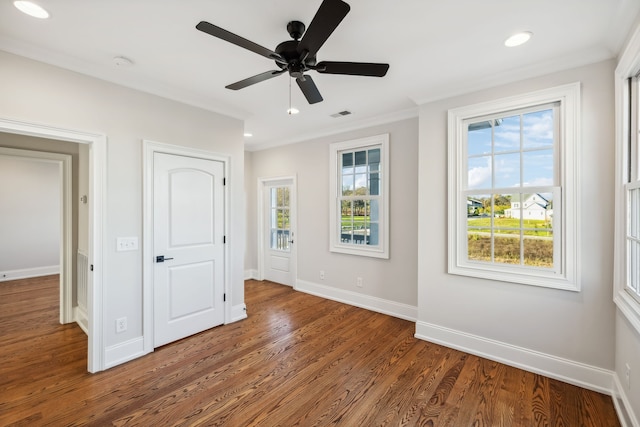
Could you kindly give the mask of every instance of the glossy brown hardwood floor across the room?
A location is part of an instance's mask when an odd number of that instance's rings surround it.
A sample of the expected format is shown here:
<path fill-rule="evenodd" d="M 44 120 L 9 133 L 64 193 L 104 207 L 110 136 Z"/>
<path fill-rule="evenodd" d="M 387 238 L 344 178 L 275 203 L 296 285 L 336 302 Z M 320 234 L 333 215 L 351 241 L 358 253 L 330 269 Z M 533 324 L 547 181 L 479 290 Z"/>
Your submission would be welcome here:
<path fill-rule="evenodd" d="M 88 374 L 57 281 L 0 283 L 1 426 L 619 425 L 608 396 L 269 282 L 246 282 L 248 319 Z"/>

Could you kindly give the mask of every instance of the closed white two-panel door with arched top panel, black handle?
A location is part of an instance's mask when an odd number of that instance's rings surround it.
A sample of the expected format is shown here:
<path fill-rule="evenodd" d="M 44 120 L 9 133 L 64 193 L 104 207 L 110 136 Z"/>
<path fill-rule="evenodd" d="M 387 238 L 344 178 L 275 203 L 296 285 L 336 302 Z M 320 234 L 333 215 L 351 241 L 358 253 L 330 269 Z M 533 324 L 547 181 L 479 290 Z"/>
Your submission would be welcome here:
<path fill-rule="evenodd" d="M 154 154 L 154 346 L 224 323 L 224 164 Z"/>

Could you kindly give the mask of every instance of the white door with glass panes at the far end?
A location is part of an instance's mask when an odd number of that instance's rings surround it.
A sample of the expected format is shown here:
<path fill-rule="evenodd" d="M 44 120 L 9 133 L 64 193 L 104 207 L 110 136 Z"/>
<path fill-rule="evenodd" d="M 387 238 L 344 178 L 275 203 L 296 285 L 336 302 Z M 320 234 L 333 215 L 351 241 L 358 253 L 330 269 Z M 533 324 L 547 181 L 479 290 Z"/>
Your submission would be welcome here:
<path fill-rule="evenodd" d="M 295 284 L 295 186 L 293 180 L 269 181 L 263 191 L 264 278 Z"/>

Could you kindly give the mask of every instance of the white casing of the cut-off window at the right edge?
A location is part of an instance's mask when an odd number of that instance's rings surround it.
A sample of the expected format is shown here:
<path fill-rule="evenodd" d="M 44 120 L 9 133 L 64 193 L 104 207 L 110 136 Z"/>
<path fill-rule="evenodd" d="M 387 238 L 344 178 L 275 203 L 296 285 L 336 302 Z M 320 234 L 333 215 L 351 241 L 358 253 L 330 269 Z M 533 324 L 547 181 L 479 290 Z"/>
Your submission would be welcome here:
<path fill-rule="evenodd" d="M 615 174 L 615 243 L 613 301 L 629 323 L 640 333 L 640 303 L 626 290 L 626 215 L 627 165 L 629 156 L 629 88 L 627 79 L 640 70 L 640 26 L 629 39 L 615 71 L 616 102 L 616 174 Z"/>

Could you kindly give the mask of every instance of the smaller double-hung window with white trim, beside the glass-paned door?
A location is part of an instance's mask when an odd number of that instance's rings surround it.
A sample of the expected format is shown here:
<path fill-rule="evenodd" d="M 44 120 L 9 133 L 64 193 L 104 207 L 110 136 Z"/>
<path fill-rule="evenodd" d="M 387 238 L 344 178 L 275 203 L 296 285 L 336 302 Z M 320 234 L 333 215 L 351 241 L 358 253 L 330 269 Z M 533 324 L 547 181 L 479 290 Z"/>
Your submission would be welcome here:
<path fill-rule="evenodd" d="M 389 135 L 329 149 L 330 250 L 389 258 Z"/>

